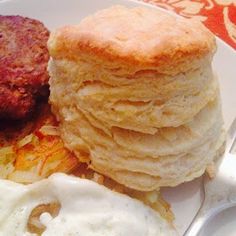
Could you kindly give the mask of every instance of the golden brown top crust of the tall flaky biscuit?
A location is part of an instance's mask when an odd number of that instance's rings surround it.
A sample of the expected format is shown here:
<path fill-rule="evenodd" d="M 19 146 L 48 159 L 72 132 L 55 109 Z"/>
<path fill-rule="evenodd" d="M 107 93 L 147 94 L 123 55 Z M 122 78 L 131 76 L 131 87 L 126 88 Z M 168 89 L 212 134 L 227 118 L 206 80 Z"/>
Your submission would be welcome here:
<path fill-rule="evenodd" d="M 215 38 L 193 20 L 143 7 L 113 6 L 79 25 L 56 30 L 48 45 L 51 56 L 57 59 L 77 60 L 86 55 L 105 63 L 160 67 L 165 71 L 212 54 Z"/>

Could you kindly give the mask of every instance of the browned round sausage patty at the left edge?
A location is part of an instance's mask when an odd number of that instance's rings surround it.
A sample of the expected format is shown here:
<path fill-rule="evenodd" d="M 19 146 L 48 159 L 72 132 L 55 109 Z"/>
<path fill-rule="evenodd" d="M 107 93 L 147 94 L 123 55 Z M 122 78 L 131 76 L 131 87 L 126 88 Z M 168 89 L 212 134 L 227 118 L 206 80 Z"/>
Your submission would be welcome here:
<path fill-rule="evenodd" d="M 0 16 L 0 119 L 22 119 L 48 89 L 49 31 L 38 20 Z"/>

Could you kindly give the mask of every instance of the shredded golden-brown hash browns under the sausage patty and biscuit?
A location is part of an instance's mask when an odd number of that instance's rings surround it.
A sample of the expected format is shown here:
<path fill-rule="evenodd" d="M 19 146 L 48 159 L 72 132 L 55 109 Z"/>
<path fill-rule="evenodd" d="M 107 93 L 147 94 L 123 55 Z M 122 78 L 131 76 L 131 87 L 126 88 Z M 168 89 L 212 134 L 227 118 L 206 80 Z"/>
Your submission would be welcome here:
<path fill-rule="evenodd" d="M 35 118 L 22 127 L 9 127 L 0 131 L 0 178 L 30 184 L 49 177 L 55 172 L 73 174 L 92 180 L 115 192 L 138 199 L 157 211 L 169 223 L 173 222 L 170 206 L 160 192 L 135 191 L 112 179 L 100 175 L 68 151 L 59 136 L 58 124 L 50 106 L 42 103 Z M 13 128 L 13 129 L 12 129 Z M 45 210 L 41 206 L 40 210 Z M 38 208 L 36 209 L 36 213 Z M 31 226 L 38 229 L 38 221 L 31 217 Z"/>

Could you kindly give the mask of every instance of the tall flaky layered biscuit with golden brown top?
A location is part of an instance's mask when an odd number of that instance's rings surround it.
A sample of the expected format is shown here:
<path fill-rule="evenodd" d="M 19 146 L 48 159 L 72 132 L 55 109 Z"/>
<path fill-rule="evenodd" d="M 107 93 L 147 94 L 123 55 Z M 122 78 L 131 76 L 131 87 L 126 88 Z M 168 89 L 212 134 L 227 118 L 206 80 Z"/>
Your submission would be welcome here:
<path fill-rule="evenodd" d="M 48 47 L 62 139 L 94 170 L 150 191 L 202 175 L 222 151 L 215 39 L 200 23 L 114 6 Z"/>

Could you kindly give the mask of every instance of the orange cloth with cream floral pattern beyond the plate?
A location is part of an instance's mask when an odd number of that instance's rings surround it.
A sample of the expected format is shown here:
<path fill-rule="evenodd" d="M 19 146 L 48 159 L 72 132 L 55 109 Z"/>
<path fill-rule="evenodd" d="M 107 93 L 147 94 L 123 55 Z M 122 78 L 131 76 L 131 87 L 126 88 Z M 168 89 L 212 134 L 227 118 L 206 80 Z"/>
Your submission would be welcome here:
<path fill-rule="evenodd" d="M 195 18 L 236 49 L 236 0 L 143 0 Z"/>

